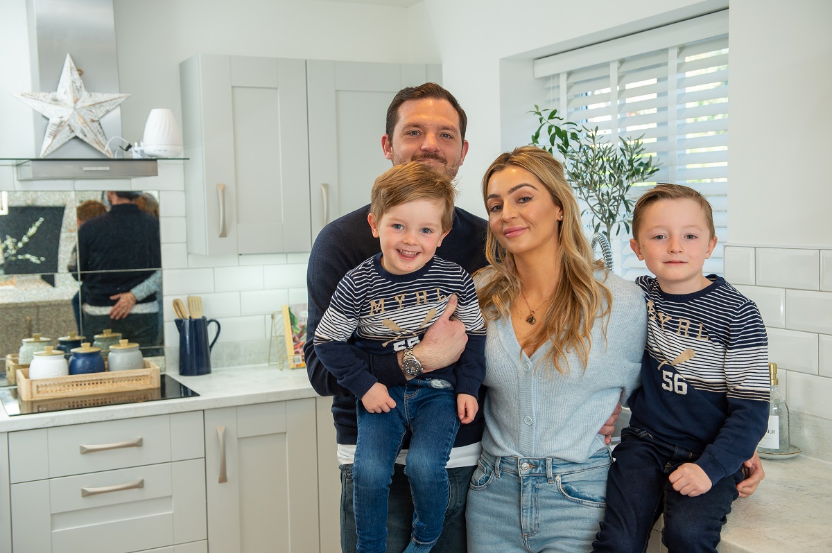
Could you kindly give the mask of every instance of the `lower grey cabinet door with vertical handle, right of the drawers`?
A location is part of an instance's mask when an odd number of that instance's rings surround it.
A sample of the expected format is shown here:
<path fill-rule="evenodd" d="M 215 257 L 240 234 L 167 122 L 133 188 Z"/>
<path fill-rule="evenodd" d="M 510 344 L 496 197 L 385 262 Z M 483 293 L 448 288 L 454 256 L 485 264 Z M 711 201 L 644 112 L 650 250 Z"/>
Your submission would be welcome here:
<path fill-rule="evenodd" d="M 314 398 L 205 417 L 210 553 L 320 551 Z"/>

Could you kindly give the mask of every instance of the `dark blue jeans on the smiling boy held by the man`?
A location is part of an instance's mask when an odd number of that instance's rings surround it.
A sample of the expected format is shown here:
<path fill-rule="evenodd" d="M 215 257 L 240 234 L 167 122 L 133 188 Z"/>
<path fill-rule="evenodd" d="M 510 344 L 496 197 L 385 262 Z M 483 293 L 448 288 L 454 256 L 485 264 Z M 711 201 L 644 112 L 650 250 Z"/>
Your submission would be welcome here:
<path fill-rule="evenodd" d="M 445 465 L 459 427 L 456 395 L 437 381 L 412 380 L 389 388 L 396 407 L 371 413 L 358 402 L 358 441 L 353 465 L 355 526 L 359 553 L 384 553 L 394 462 L 410 429 L 407 467 L 413 492 L 413 535 L 405 551 L 429 551 L 442 533 L 448 506 Z"/>

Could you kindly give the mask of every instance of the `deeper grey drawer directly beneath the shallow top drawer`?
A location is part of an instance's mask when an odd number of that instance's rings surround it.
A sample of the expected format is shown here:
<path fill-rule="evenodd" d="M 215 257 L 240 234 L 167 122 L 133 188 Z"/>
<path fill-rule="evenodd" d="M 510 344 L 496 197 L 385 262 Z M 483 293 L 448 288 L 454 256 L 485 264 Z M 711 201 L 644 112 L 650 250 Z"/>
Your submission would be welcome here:
<path fill-rule="evenodd" d="M 129 553 L 207 538 L 202 459 L 11 487 L 14 551 Z"/>

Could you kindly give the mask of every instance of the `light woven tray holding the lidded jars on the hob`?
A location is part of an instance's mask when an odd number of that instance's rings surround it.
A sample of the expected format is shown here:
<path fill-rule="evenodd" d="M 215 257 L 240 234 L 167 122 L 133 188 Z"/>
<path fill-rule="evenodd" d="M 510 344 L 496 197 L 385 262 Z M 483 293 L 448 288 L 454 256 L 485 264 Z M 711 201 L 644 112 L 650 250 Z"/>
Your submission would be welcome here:
<path fill-rule="evenodd" d="M 52 397 L 93 396 L 159 388 L 159 366 L 147 359 L 145 368 L 112 373 L 71 374 L 68 377 L 29 379 L 29 369 L 17 370 L 17 397 L 31 402 Z"/>

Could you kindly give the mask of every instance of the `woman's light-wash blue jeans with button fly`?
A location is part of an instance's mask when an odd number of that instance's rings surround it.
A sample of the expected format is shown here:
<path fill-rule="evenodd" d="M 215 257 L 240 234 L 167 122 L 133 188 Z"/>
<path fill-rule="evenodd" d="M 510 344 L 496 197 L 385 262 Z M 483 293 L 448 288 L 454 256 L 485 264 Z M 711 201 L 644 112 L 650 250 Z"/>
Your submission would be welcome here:
<path fill-rule="evenodd" d="M 468 551 L 590 551 L 611 462 L 606 447 L 583 463 L 483 452 L 468 491 Z"/>

